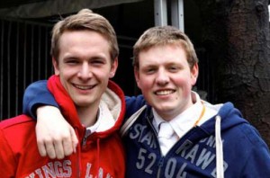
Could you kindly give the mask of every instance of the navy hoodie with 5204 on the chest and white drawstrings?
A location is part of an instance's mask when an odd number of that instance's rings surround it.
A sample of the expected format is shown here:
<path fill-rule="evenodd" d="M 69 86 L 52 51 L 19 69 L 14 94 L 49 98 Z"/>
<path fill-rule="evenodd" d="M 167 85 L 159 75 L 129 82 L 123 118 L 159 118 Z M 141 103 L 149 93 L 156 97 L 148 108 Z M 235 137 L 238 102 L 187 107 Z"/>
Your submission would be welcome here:
<path fill-rule="evenodd" d="M 26 90 L 24 100 L 34 102 L 24 103 L 24 112 L 34 113 L 40 103 L 57 106 L 44 90 L 45 85 L 36 83 Z M 40 92 L 42 97 L 34 100 L 35 93 Z M 266 143 L 232 103 L 211 105 L 205 102 L 206 107 L 214 108 L 217 114 L 190 129 L 166 156 L 162 156 L 159 148 L 152 108 L 143 96 L 126 97 L 126 104 L 126 120 L 121 129 L 127 153 L 125 177 L 270 177 L 270 153 Z"/>

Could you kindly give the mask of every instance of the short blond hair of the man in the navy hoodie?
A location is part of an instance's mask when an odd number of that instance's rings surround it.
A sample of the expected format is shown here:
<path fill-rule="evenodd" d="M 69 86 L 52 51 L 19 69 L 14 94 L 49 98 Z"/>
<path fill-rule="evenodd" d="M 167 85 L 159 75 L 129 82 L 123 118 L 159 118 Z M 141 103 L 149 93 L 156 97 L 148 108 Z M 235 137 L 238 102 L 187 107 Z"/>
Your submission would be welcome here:
<path fill-rule="evenodd" d="M 199 62 L 195 49 L 193 48 L 193 43 L 183 31 L 173 26 L 157 26 L 145 31 L 133 46 L 134 67 L 139 69 L 139 52 L 152 47 L 169 44 L 179 45 L 184 49 L 187 62 L 191 68 L 195 63 Z"/>

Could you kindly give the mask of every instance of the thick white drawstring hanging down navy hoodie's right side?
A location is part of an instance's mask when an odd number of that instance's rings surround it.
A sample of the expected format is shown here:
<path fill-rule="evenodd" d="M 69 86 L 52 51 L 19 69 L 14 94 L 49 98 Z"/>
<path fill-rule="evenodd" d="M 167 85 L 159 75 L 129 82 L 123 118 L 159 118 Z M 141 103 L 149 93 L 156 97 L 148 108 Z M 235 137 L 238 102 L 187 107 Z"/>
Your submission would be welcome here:
<path fill-rule="evenodd" d="M 223 168 L 223 146 L 221 140 L 221 129 L 220 129 L 220 122 L 221 117 L 218 115 L 216 116 L 215 122 L 215 135 L 216 135 L 216 171 L 217 171 L 217 178 L 224 178 L 224 168 Z"/>

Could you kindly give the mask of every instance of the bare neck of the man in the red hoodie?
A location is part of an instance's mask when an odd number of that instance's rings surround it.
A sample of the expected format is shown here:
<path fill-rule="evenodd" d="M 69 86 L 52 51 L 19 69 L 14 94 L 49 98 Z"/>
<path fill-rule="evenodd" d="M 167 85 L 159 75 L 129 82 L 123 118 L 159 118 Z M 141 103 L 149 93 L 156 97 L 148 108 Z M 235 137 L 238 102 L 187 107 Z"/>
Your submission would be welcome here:
<path fill-rule="evenodd" d="M 81 123 L 87 128 L 93 126 L 97 120 L 98 105 L 95 107 L 77 108 L 77 114 Z"/>

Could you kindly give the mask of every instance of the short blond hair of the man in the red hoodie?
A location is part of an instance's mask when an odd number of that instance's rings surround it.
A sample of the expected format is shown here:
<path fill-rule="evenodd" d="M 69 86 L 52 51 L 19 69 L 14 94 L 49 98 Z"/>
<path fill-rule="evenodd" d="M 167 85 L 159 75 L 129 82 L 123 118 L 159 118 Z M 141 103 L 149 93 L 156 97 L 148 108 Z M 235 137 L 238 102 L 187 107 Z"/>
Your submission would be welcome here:
<path fill-rule="evenodd" d="M 102 15 L 83 9 L 57 22 L 52 30 L 50 54 L 58 61 L 59 39 L 65 31 L 95 31 L 103 35 L 110 44 L 112 61 L 118 57 L 119 48 L 112 25 Z"/>

